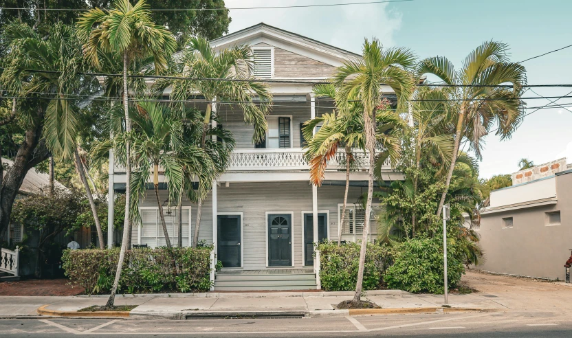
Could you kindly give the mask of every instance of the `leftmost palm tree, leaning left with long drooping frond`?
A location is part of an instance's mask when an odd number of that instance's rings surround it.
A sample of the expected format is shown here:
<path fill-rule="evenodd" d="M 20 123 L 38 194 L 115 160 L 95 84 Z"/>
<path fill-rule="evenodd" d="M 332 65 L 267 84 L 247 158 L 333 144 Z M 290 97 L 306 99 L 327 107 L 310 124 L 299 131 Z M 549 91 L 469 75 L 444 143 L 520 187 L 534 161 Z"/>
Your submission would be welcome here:
<path fill-rule="evenodd" d="M 73 27 L 62 23 L 50 26 L 47 36 L 21 23 L 8 24 L 4 34 L 12 54 L 8 67 L 2 74 L 2 82 L 22 91 L 23 95 L 42 93 L 52 97 L 47 104 L 43 128 L 47 147 L 61 159 L 74 158 L 96 223 L 99 246 L 104 249 L 94 197 L 85 179 L 85 169 L 78 165 L 77 137 L 81 118 L 78 95 L 89 94 L 85 88 L 94 80 L 79 74 L 87 67 L 81 55 L 78 36 Z M 41 72 L 54 69 L 59 73 Z"/>

